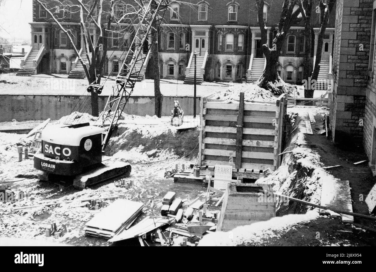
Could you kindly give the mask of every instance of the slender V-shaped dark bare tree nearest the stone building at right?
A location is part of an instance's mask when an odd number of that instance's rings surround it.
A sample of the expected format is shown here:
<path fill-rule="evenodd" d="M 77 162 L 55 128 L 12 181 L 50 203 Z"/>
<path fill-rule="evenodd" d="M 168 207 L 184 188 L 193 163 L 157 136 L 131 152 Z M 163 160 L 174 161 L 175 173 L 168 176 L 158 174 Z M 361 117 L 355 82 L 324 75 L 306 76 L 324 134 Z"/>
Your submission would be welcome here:
<path fill-rule="evenodd" d="M 335 4 L 335 0 L 320 0 L 318 6 L 313 5 L 313 0 L 299 0 L 298 1 L 299 8 L 304 20 L 304 35 L 306 37 L 305 40 L 305 56 L 304 56 L 304 71 L 303 71 L 303 79 L 309 82 L 309 78 L 311 81 L 317 82 L 318 73 L 320 72 L 320 63 L 321 63 L 321 52 L 323 48 L 323 39 L 326 30 L 326 26 L 329 19 L 329 14 L 332 11 L 332 8 Z M 311 14 L 313 9 L 318 9 L 321 16 L 321 24 L 320 24 L 320 32 L 318 33 L 318 41 L 317 41 L 317 50 L 316 50 L 316 58 L 315 58 L 315 65 L 312 70 L 312 38 L 314 37 L 313 28 L 312 28 L 312 21 L 311 21 Z M 304 97 L 305 98 L 313 98 L 314 94 L 314 86 L 310 85 L 310 88 L 304 90 Z M 312 88 L 313 87 L 313 88 Z"/>

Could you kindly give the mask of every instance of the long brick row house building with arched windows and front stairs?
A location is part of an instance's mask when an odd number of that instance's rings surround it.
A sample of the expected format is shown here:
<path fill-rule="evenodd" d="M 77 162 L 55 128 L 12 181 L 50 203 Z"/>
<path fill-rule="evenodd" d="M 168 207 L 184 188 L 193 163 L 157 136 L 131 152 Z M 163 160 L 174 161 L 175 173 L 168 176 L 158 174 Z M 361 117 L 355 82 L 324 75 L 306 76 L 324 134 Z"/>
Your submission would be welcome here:
<path fill-rule="evenodd" d="M 66 0 L 65 2 L 70 3 Z M 120 2 L 120 3 L 119 3 Z M 118 0 L 115 14 L 124 12 L 121 3 L 130 0 Z M 241 81 L 243 78 L 255 81 L 261 75 L 265 59 L 261 50 L 261 33 L 258 25 L 257 3 L 255 0 L 187 0 L 193 5 L 170 1 L 170 9 L 166 12 L 159 33 L 159 57 L 161 77 L 182 79 L 189 82 L 193 78 L 193 51 L 197 57 L 197 79 L 199 81 Z M 273 40 L 275 27 L 278 24 L 282 0 L 267 1 L 264 6 L 264 19 L 268 27 L 268 42 Z M 60 11 L 62 12 L 62 11 Z M 75 36 L 77 47 L 83 47 L 80 38 L 81 30 L 79 14 L 74 10 L 65 9 L 63 25 Z M 70 14 L 71 12 L 71 14 Z M 312 54 L 317 50 L 318 26 L 320 14 L 313 12 L 315 44 Z M 83 77 L 83 68 L 77 62 L 67 36 L 50 15 L 33 0 L 33 22 L 31 40 L 33 50 L 23 62 L 21 75 L 35 73 L 61 73 L 72 77 Z M 331 58 L 334 41 L 334 11 L 324 37 L 322 53 L 321 78 L 331 77 Z M 129 26 L 129 27 L 127 27 Z M 113 28 L 127 27 L 132 22 L 124 21 L 113 24 Z M 303 22 L 291 27 L 285 39 L 279 58 L 279 73 L 285 82 L 299 83 L 303 77 L 303 58 L 305 52 L 305 36 Z M 96 31 L 89 29 L 95 39 Z M 121 37 L 111 33 L 108 43 L 105 74 L 117 74 L 130 41 L 132 31 Z M 27 58 L 28 57 L 28 58 Z M 313 57 L 313 55 L 312 55 Z M 148 56 L 149 60 L 150 57 Z M 151 78 L 151 65 L 142 71 L 141 76 Z"/>

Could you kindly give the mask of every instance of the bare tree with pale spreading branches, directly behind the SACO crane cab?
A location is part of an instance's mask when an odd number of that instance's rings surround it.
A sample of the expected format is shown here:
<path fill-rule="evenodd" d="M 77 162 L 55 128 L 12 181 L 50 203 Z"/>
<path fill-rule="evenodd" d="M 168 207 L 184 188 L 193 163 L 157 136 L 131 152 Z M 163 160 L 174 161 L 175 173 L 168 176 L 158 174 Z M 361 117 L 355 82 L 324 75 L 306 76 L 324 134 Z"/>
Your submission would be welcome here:
<path fill-rule="evenodd" d="M 68 2 L 60 0 L 48 2 L 46 0 L 36 0 L 36 2 L 38 2 L 50 15 L 50 20 L 55 22 L 59 29 L 67 35 L 70 45 L 77 54 L 79 61 L 82 63 L 89 85 L 100 85 L 104 73 L 103 68 L 106 63 L 109 37 L 112 36 L 112 32 L 115 32 L 120 40 L 120 37 L 122 37 L 120 33 L 124 33 L 126 31 L 125 28 L 129 28 L 129 26 L 127 26 L 114 30 L 112 24 L 119 24 L 123 20 L 127 20 L 139 14 L 141 11 L 139 8 L 140 4 L 136 0 L 131 2 L 132 5 L 121 3 L 121 5 L 124 5 L 123 11 L 125 12 L 119 13 L 114 10 L 114 0 L 73 1 L 75 2 L 74 4 L 69 4 Z M 61 13 L 63 16 L 60 16 Z M 81 36 L 83 39 L 83 47 L 85 48 L 84 51 L 86 52 L 86 58 L 88 60 L 88 66 L 86 66 L 85 61 L 79 54 L 80 49 L 74 42 L 75 37 L 73 36 L 73 33 L 65 24 L 68 22 L 65 14 L 69 13 L 79 14 Z M 89 31 L 91 26 L 94 27 L 94 31 L 96 32 L 95 39 Z M 91 110 L 92 115 L 94 116 L 99 115 L 98 90 L 98 88 L 88 88 L 88 91 L 91 91 Z"/>

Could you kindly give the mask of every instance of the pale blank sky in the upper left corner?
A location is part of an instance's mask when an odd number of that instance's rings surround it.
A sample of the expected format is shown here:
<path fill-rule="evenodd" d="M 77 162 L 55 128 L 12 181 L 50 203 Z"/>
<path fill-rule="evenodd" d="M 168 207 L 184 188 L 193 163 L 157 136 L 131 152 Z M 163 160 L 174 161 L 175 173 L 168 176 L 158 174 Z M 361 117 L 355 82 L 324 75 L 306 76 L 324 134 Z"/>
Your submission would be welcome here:
<path fill-rule="evenodd" d="M 32 22 L 32 0 L 1 0 L 0 37 L 16 43 L 30 43 L 30 25 Z"/>

